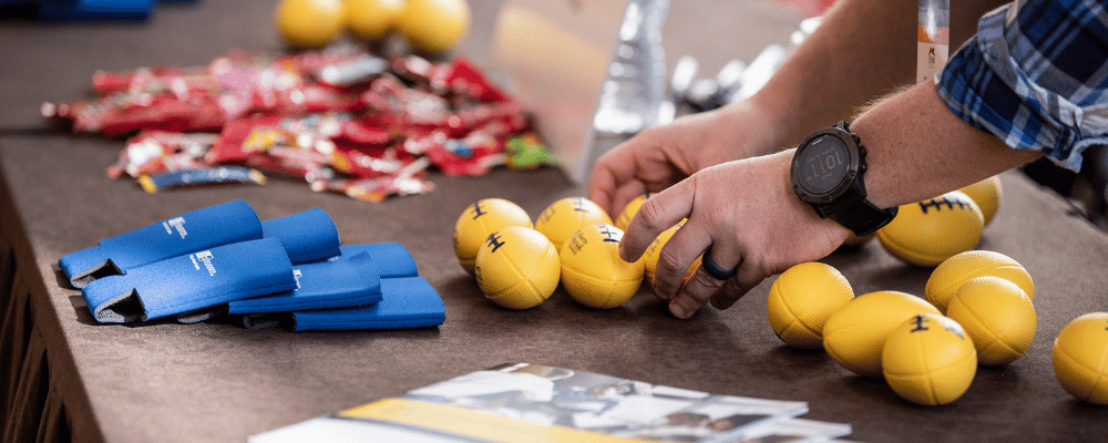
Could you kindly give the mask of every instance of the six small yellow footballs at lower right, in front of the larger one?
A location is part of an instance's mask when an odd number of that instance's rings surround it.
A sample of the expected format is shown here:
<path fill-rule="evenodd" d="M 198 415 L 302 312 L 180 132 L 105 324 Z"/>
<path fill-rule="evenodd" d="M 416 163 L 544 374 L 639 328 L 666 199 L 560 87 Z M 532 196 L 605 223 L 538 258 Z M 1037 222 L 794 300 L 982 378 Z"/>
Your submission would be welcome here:
<path fill-rule="evenodd" d="M 1035 285 L 1012 258 L 961 253 L 938 265 L 925 296 L 854 297 L 833 267 L 806 262 L 770 287 L 770 326 L 788 346 L 823 349 L 839 365 L 883 377 L 902 398 L 946 404 L 968 390 L 979 365 L 1018 360 L 1035 339 Z M 1054 372 L 1078 400 L 1108 404 L 1108 312 L 1081 316 L 1054 343 Z"/>

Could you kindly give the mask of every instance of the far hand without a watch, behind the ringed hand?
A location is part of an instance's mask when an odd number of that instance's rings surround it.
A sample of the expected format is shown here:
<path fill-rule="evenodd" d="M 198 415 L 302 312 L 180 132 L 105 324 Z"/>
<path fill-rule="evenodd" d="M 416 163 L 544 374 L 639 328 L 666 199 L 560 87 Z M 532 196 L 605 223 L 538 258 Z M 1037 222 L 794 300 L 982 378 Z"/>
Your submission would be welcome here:
<path fill-rule="evenodd" d="M 747 101 L 647 128 L 596 161 L 588 199 L 608 214 L 619 214 L 633 198 L 660 192 L 697 171 L 776 151 L 778 126 Z"/>

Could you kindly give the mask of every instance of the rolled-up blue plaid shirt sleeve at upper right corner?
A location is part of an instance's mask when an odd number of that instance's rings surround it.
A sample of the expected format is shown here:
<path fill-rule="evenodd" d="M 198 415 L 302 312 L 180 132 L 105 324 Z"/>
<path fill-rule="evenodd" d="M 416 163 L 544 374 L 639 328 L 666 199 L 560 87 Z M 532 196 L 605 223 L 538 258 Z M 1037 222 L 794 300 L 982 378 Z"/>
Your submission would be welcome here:
<path fill-rule="evenodd" d="M 962 120 L 1077 171 L 1086 147 L 1108 144 L 1106 2 L 1017 0 L 989 12 L 935 85 Z"/>

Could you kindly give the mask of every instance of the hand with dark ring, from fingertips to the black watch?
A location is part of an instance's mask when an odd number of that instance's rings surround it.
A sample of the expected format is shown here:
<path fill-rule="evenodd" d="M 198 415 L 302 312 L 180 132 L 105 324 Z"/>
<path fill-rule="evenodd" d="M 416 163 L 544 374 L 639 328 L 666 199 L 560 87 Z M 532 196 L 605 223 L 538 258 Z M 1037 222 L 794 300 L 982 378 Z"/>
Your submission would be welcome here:
<path fill-rule="evenodd" d="M 712 166 L 647 199 L 620 241 L 634 261 L 663 230 L 688 218 L 658 254 L 654 291 L 669 310 L 688 318 L 711 300 L 727 309 L 767 277 L 831 254 L 850 233 L 821 219 L 797 198 L 789 179 L 790 150 Z M 701 266 L 683 285 L 689 266 L 711 247 L 711 260 L 737 271 L 726 281 Z"/>

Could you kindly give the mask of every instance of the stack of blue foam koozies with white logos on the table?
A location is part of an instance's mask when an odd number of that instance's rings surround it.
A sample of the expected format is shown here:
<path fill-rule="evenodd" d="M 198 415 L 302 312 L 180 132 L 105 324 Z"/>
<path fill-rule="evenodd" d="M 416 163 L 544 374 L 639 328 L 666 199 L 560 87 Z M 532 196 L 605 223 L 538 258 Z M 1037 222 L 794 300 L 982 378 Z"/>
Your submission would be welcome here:
<path fill-rule="evenodd" d="M 58 265 L 100 322 L 227 315 L 252 329 L 304 331 L 445 320 L 403 246 L 340 246 L 318 208 L 261 222 L 246 202 L 229 202 L 105 238 Z"/>

